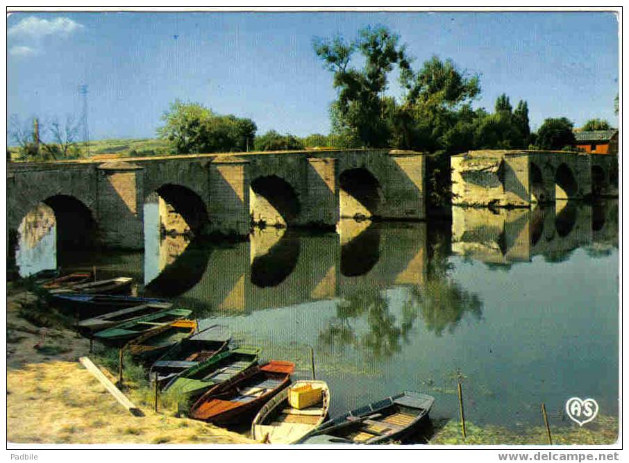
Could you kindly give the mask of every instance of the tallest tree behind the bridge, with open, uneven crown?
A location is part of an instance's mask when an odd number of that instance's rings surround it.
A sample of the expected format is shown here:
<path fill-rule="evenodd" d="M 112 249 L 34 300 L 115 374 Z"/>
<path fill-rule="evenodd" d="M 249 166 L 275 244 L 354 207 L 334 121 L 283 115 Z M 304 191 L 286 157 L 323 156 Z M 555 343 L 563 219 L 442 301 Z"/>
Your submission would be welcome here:
<path fill-rule="evenodd" d="M 317 38 L 314 47 L 326 69 L 333 72 L 333 86 L 338 92 L 330 108 L 333 133 L 340 135 L 346 146 L 387 146 L 392 135 L 385 117 L 387 76 L 395 66 L 403 76 L 410 73 L 399 35 L 383 26 L 367 27 L 352 42 L 339 36 Z M 351 65 L 357 51 L 364 61 L 362 68 Z"/>

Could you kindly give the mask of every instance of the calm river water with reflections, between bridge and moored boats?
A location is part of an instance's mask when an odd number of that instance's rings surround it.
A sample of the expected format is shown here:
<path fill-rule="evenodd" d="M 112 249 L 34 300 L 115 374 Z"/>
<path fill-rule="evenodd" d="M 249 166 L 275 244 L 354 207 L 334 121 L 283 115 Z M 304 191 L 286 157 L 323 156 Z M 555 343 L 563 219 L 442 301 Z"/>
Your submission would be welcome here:
<path fill-rule="evenodd" d="M 617 201 L 454 208 L 451 223 L 342 221 L 338 233 L 267 228 L 235 243 L 160 237 L 157 206 L 144 213 L 144 253 L 56 255 L 55 226 L 31 217 L 20 272 L 56 262 L 133 276 L 137 292 L 295 361 L 300 378 L 312 346 L 332 414 L 414 389 L 435 396 L 431 416 L 456 418 L 460 378 L 481 425 L 540 426 L 542 402 L 553 426 L 569 424 L 573 396 L 618 415 Z"/>

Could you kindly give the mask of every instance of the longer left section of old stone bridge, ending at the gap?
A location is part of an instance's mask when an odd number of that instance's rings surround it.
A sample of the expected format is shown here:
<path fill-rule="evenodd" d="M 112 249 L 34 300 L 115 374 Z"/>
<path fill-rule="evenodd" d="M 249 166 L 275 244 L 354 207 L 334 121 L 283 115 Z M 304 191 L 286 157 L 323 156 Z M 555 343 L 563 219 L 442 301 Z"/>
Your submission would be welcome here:
<path fill-rule="evenodd" d="M 340 217 L 424 219 L 425 162 L 412 151 L 330 150 L 174 155 L 7 165 L 7 230 L 38 203 L 58 241 L 144 247 L 157 193 L 193 233 L 247 235 L 253 222 L 328 226 Z"/>

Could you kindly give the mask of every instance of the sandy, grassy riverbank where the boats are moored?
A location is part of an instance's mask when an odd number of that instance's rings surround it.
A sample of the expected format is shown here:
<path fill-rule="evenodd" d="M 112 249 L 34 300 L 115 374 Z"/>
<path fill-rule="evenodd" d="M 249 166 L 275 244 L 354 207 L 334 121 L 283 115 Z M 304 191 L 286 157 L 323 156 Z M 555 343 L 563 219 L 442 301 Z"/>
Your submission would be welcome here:
<path fill-rule="evenodd" d="M 125 393 L 144 416 L 133 416 L 78 363 L 90 343 L 62 326 L 42 328 L 20 317 L 36 298 L 7 303 L 7 439 L 40 444 L 252 444 L 235 432 L 153 412 Z M 24 310 L 24 309 L 22 309 Z M 22 312 L 23 314 L 24 312 Z M 42 342 L 42 331 L 45 332 Z M 33 346 L 41 343 L 42 348 Z"/>

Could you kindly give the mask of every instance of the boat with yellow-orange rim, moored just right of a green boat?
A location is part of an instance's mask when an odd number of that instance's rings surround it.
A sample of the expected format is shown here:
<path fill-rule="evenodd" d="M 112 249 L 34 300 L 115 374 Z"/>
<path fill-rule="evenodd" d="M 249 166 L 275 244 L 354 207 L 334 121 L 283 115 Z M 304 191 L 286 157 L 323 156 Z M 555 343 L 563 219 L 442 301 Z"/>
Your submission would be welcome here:
<path fill-rule="evenodd" d="M 177 320 L 159 328 L 144 332 L 143 335 L 132 339 L 125 349 L 135 357 L 143 360 L 162 355 L 169 348 L 190 337 L 196 331 L 196 320 Z"/>

